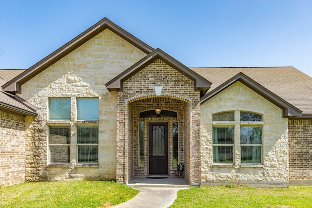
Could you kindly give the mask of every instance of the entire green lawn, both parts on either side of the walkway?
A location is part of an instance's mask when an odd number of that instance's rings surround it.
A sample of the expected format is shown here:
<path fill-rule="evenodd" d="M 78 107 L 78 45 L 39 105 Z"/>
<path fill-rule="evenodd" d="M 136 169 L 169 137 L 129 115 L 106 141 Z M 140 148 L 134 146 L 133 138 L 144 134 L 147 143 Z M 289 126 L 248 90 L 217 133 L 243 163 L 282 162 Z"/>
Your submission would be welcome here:
<path fill-rule="evenodd" d="M 114 181 L 33 182 L 0 186 L 0 208 L 105 208 L 139 191 Z M 312 208 L 312 187 L 182 189 L 170 208 Z"/>

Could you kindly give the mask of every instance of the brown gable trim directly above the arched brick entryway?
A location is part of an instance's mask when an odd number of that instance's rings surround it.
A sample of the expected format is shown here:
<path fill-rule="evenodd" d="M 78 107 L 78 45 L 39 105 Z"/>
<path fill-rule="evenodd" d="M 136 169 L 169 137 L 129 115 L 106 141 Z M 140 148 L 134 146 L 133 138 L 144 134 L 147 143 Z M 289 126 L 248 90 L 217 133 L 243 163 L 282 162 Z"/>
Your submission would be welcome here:
<path fill-rule="evenodd" d="M 133 66 L 110 80 L 105 84 L 108 90 L 117 90 L 122 91 L 122 84 L 124 81 L 129 79 L 131 76 L 134 76 L 139 71 L 144 69 L 148 64 L 153 62 L 156 59 L 161 59 L 165 63 L 167 63 L 169 66 L 176 69 L 178 72 L 183 74 L 184 76 L 187 76 L 188 78 L 192 79 L 194 81 L 194 90 L 200 90 L 201 96 L 205 95 L 205 93 L 209 90 L 212 83 L 205 79 L 204 77 L 200 76 L 199 74 L 195 73 L 193 70 L 188 68 L 187 66 L 183 65 L 181 62 L 177 61 L 175 58 L 171 57 L 167 53 L 163 52 L 161 49 L 157 48 L 153 52 L 151 52 L 146 57 L 139 60 L 137 63 L 135 63 Z"/>

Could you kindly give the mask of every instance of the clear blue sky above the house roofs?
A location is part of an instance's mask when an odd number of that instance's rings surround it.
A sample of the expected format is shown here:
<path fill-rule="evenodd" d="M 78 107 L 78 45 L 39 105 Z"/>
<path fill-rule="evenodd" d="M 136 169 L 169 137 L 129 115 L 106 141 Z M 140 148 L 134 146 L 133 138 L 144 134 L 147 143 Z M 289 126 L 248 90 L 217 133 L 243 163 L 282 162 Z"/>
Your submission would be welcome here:
<path fill-rule="evenodd" d="M 0 69 L 29 68 L 107 17 L 188 67 L 312 76 L 311 11 L 311 0 L 0 0 Z"/>

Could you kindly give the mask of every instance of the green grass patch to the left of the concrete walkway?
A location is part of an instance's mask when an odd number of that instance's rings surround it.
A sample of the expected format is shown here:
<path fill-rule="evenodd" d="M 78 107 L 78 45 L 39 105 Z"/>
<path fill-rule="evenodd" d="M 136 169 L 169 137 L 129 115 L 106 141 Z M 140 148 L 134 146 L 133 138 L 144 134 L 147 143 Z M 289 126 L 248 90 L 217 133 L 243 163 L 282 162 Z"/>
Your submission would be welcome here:
<path fill-rule="evenodd" d="M 0 187 L 0 208 L 105 208 L 138 192 L 114 181 L 25 182 Z"/>

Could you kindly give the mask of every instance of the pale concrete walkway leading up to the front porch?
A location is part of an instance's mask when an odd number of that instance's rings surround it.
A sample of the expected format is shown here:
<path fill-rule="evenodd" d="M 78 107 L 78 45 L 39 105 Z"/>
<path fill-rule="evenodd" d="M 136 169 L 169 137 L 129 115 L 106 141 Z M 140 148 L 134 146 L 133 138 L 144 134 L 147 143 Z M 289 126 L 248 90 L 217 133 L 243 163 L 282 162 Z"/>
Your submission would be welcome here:
<path fill-rule="evenodd" d="M 114 208 L 168 208 L 176 200 L 176 192 L 180 189 L 170 187 L 140 187 L 140 192 L 129 201 Z"/>

